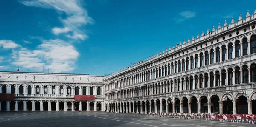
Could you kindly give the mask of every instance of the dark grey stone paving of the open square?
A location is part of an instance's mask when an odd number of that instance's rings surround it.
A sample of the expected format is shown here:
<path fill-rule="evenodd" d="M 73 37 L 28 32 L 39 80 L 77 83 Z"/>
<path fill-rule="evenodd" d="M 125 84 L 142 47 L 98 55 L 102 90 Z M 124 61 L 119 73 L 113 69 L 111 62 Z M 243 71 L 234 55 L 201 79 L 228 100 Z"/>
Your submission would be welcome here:
<path fill-rule="evenodd" d="M 106 112 L 0 112 L 0 127 L 256 127 L 256 124 Z"/>

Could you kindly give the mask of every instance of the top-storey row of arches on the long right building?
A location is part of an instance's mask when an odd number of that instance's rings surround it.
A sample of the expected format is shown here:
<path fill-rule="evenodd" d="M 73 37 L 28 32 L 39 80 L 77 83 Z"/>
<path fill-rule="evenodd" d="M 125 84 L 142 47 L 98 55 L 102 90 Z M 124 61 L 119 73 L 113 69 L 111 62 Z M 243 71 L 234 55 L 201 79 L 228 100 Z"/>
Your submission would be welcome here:
<path fill-rule="evenodd" d="M 250 39 L 248 40 L 248 38 Z M 221 47 L 217 46 L 215 49 L 212 48 L 209 49 L 209 51 L 207 50 L 199 54 L 193 54 L 192 56 L 187 56 L 186 58 L 161 65 L 160 67 L 108 83 L 106 85 L 106 90 L 144 82 L 161 76 L 186 71 L 189 69 L 195 69 L 204 65 L 210 65 L 228 59 L 246 56 L 248 54 L 254 54 L 256 53 L 256 35 L 253 34 L 248 38 L 244 37 L 241 40 L 228 42 Z"/>

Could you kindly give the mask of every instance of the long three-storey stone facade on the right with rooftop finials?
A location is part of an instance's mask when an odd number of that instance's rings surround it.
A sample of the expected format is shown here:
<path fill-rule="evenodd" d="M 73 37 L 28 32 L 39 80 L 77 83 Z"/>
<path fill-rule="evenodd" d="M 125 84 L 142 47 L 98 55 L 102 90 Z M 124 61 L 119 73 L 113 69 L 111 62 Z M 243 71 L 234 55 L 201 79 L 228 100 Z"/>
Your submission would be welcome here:
<path fill-rule="evenodd" d="M 105 77 L 105 109 L 256 114 L 256 11 Z"/>

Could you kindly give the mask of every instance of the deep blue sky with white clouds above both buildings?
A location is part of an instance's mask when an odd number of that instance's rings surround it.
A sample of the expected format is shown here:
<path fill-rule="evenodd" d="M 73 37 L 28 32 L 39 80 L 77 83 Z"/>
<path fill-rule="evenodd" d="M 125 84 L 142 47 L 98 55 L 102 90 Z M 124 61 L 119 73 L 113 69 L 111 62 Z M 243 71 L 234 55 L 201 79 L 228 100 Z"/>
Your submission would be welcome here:
<path fill-rule="evenodd" d="M 254 0 L 2 0 L 0 71 L 113 73 L 255 11 Z M 241 6 L 244 5 L 244 6 Z"/>

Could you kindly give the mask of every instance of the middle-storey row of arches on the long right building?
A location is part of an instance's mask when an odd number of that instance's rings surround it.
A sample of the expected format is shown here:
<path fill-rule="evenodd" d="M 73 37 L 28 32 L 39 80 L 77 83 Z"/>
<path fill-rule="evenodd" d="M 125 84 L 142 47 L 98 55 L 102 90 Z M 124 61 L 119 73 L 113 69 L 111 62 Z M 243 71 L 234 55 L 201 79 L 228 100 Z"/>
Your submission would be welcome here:
<path fill-rule="evenodd" d="M 169 93 L 183 90 L 195 90 L 200 88 L 235 85 L 248 82 L 256 82 L 256 64 L 235 66 L 234 68 L 211 71 L 209 73 L 195 74 L 194 76 L 180 77 L 170 81 L 143 85 L 127 90 L 106 93 L 107 100 L 123 99 L 137 96 L 148 96 L 161 93 Z"/>

